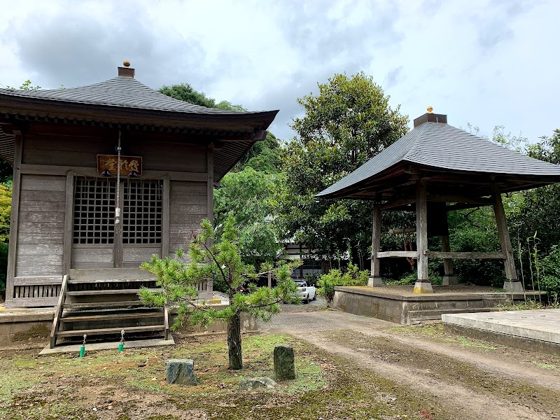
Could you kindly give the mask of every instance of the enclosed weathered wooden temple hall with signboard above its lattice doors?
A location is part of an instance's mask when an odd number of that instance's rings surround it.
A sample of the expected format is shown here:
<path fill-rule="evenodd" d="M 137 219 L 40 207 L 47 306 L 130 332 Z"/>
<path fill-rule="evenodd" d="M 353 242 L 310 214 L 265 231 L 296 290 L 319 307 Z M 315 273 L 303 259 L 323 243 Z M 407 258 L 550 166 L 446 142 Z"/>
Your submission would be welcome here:
<path fill-rule="evenodd" d="M 278 112 L 181 102 L 123 64 L 94 85 L 0 89 L 0 156 L 13 165 L 6 306 L 56 305 L 59 330 L 80 331 L 66 309 L 106 309 L 114 324 L 118 301 L 139 304 L 139 286 L 155 284 L 141 262 L 186 249 L 212 220 L 214 183 Z"/>

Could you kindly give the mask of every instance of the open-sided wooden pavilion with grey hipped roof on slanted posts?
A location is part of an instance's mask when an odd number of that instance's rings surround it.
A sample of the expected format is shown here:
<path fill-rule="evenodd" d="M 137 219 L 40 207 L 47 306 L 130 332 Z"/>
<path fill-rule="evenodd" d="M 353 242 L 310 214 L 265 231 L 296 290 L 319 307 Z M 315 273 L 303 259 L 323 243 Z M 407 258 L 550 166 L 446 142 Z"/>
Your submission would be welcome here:
<path fill-rule="evenodd" d="M 414 120 L 414 130 L 318 197 L 371 200 L 373 204 L 370 286 L 382 284 L 383 258 L 414 258 L 418 280 L 414 293 L 432 293 L 428 258 L 444 261 L 444 285 L 456 284 L 453 260 L 498 259 L 505 265 L 504 288 L 522 292 L 501 195 L 560 182 L 560 167 L 535 160 L 447 124 L 447 116 L 428 113 Z M 447 212 L 492 206 L 499 252 L 451 252 Z M 381 211 L 416 211 L 416 251 L 381 251 Z M 441 237 L 440 249 L 428 248 L 428 237 Z"/>

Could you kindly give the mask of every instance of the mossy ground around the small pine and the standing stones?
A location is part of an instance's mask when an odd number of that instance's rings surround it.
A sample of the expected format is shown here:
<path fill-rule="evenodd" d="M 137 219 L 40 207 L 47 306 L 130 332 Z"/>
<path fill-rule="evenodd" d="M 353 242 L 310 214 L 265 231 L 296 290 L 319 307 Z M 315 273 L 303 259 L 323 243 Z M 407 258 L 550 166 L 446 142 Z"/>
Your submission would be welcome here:
<path fill-rule="evenodd" d="M 290 343 L 297 378 L 241 391 L 244 377 L 274 377 L 274 345 Z M 288 335 L 244 335 L 244 369 L 228 370 L 225 336 L 176 346 L 36 356 L 0 353 L 1 419 L 455 419 L 438 402 Z M 198 386 L 165 381 L 165 360 L 192 358 Z M 429 416 L 429 417 L 428 417 Z"/>

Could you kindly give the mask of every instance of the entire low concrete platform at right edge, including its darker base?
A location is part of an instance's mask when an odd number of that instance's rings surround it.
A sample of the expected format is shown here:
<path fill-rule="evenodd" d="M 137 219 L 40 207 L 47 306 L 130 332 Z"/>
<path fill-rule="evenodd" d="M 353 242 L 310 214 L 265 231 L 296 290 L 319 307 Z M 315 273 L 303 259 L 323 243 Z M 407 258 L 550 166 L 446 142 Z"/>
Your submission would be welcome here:
<path fill-rule="evenodd" d="M 560 309 L 445 314 L 444 329 L 531 351 L 560 354 Z"/>

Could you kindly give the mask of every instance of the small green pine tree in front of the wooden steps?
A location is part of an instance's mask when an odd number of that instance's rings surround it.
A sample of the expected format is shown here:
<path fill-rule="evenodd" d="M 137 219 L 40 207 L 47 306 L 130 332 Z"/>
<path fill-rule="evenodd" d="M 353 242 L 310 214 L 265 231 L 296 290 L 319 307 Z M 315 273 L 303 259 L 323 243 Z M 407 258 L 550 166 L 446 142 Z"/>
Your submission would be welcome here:
<path fill-rule="evenodd" d="M 255 274 L 253 266 L 241 261 L 238 232 L 233 218 L 228 217 L 225 221 L 222 235 L 216 241 L 209 221 L 202 221 L 201 228 L 200 235 L 190 244 L 189 263 L 183 260 L 183 253 L 179 251 L 176 258 L 161 260 L 153 255 L 150 262 L 141 265 L 141 268 L 155 274 L 162 291 L 144 288 L 139 295 L 141 300 L 155 306 L 177 305 L 175 327 L 186 320 L 201 325 L 214 320 L 227 321 L 230 369 L 239 370 L 243 367 L 241 314 L 269 321 L 274 314 L 279 313 L 280 302 L 300 302 L 297 286 L 290 278 L 292 266 L 280 265 L 274 270 L 277 279 L 275 288 L 251 286 L 251 293 L 241 294 L 241 287 L 258 274 Z M 230 300 L 228 307 L 218 311 L 196 300 L 197 283 L 216 279 L 225 283 Z"/>

